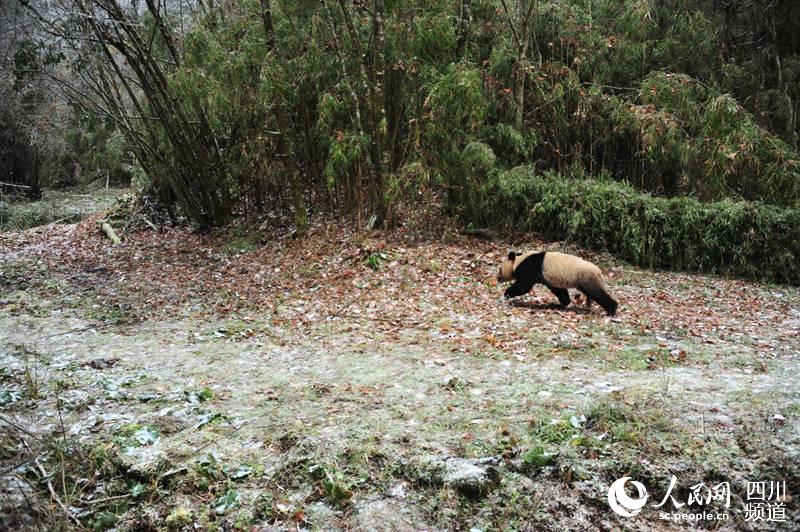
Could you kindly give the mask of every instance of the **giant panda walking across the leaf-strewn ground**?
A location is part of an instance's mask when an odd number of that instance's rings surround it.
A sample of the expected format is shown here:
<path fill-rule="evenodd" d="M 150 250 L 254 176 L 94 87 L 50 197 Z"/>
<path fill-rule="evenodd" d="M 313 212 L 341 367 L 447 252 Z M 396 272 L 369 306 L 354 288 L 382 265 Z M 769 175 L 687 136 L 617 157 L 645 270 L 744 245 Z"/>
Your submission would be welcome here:
<path fill-rule="evenodd" d="M 553 292 L 562 308 L 569 305 L 567 288 L 577 288 L 586 295 L 586 305 L 597 301 L 609 316 L 617 312 L 617 302 L 608 295 L 603 272 L 589 261 L 555 251 L 511 252 L 500 265 L 498 281 L 514 281 L 505 298 L 527 294 L 533 285 L 541 283 Z"/>

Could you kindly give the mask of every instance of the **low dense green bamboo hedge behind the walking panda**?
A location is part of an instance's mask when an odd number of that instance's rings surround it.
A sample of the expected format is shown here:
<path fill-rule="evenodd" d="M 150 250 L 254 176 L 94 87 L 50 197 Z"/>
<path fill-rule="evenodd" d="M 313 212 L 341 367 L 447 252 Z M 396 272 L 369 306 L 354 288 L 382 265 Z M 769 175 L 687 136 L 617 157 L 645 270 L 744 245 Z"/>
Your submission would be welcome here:
<path fill-rule="evenodd" d="M 530 167 L 498 174 L 480 197 L 472 212 L 483 223 L 607 250 L 639 266 L 800 284 L 798 209 L 660 198 Z"/>

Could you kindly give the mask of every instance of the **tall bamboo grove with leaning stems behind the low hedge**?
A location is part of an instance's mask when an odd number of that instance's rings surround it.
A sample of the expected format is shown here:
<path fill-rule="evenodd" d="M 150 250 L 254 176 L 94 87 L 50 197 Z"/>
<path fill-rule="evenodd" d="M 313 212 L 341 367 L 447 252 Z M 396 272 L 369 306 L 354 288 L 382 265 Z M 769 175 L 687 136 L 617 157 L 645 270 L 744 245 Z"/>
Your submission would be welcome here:
<path fill-rule="evenodd" d="M 521 165 L 698 205 L 800 201 L 793 2 L 189 5 L 40 18 L 73 47 L 75 101 L 204 228 L 244 214 L 302 230 L 321 210 L 378 227 L 423 190 L 488 223 L 503 205 L 487 195 Z"/>

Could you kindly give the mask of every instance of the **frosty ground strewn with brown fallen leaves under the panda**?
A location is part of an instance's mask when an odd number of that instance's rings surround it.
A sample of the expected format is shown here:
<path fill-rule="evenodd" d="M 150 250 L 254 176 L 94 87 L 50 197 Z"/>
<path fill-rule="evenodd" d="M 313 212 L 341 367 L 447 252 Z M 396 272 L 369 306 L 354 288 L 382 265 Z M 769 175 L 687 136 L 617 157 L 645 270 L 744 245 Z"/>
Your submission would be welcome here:
<path fill-rule="evenodd" d="M 616 317 L 509 303 L 511 241 L 415 223 L 0 234 L 0 527 L 796 529 L 798 288 L 571 249 Z M 662 519 L 672 475 L 727 518 Z M 758 481 L 783 522 L 746 520 Z"/>

